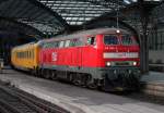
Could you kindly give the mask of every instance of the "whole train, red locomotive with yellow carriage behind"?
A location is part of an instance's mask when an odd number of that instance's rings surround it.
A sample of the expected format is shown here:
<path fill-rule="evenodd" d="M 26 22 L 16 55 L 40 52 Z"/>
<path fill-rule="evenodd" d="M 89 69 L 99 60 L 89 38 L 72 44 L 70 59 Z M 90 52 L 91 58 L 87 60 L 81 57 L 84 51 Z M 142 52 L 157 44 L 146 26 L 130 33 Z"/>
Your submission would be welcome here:
<path fill-rule="evenodd" d="M 14 47 L 14 68 L 105 91 L 134 90 L 140 78 L 140 46 L 133 34 L 96 28 Z"/>

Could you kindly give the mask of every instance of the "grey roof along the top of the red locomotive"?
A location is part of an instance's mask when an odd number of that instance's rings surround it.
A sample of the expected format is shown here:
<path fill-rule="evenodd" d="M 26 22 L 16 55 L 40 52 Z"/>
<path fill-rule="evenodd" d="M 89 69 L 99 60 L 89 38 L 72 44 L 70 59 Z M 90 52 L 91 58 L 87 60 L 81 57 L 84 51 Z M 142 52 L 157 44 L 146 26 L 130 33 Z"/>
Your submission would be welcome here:
<path fill-rule="evenodd" d="M 55 41 L 55 40 L 73 39 L 73 38 L 80 38 L 80 37 L 94 36 L 97 34 L 116 34 L 116 30 L 118 29 L 120 30 L 121 34 L 130 34 L 128 30 L 125 30 L 121 28 L 96 28 L 96 29 L 81 30 L 81 32 L 77 32 L 70 35 L 57 36 L 51 39 L 44 39 L 42 41 L 49 42 L 49 41 Z"/>

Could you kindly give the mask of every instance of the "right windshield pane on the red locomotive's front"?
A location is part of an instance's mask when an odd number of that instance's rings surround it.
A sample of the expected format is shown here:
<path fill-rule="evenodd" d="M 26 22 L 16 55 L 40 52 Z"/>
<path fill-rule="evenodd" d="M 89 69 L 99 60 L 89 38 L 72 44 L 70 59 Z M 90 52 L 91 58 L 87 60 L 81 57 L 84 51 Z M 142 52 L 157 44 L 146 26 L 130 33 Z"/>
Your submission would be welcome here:
<path fill-rule="evenodd" d="M 122 35 L 121 36 L 121 45 L 124 45 L 124 46 L 137 45 L 137 41 L 131 35 Z"/>

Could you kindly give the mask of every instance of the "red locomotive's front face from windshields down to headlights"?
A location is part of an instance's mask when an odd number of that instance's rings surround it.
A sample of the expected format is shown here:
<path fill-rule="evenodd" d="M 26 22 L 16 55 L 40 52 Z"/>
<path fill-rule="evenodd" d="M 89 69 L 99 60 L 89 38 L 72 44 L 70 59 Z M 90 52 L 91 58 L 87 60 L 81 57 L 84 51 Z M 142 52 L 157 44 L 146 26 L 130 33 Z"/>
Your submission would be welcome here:
<path fill-rule="evenodd" d="M 128 34 L 104 35 L 104 66 L 139 66 L 139 45 Z"/>

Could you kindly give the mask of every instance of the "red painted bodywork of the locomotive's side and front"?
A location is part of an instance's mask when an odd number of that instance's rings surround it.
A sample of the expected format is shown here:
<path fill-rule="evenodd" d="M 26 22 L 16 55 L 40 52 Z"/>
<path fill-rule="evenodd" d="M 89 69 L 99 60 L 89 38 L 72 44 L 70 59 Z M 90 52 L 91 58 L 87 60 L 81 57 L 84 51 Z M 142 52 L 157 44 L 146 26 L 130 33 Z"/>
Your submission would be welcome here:
<path fill-rule="evenodd" d="M 117 35 L 120 41 L 121 34 Z M 78 36 L 77 34 L 77 37 Z M 39 53 L 39 63 L 46 65 L 67 65 L 67 66 L 78 66 L 78 67 L 105 67 L 108 61 L 136 61 L 139 66 L 140 59 L 138 58 L 126 58 L 120 56 L 104 59 L 103 54 L 107 53 L 119 53 L 119 52 L 137 52 L 139 54 L 139 45 L 133 46 L 122 46 L 118 45 L 105 45 L 103 41 L 104 34 L 96 34 L 95 45 L 87 45 L 87 38 L 92 35 L 83 36 L 83 46 L 78 47 L 67 47 L 67 48 L 43 48 Z M 69 38 L 68 38 L 69 39 Z M 136 40 L 134 38 L 132 38 Z M 61 38 L 54 39 L 54 41 L 61 41 Z M 65 40 L 65 39 L 63 39 Z M 48 40 L 50 42 L 50 40 Z M 120 54 L 121 55 L 121 54 Z"/>

